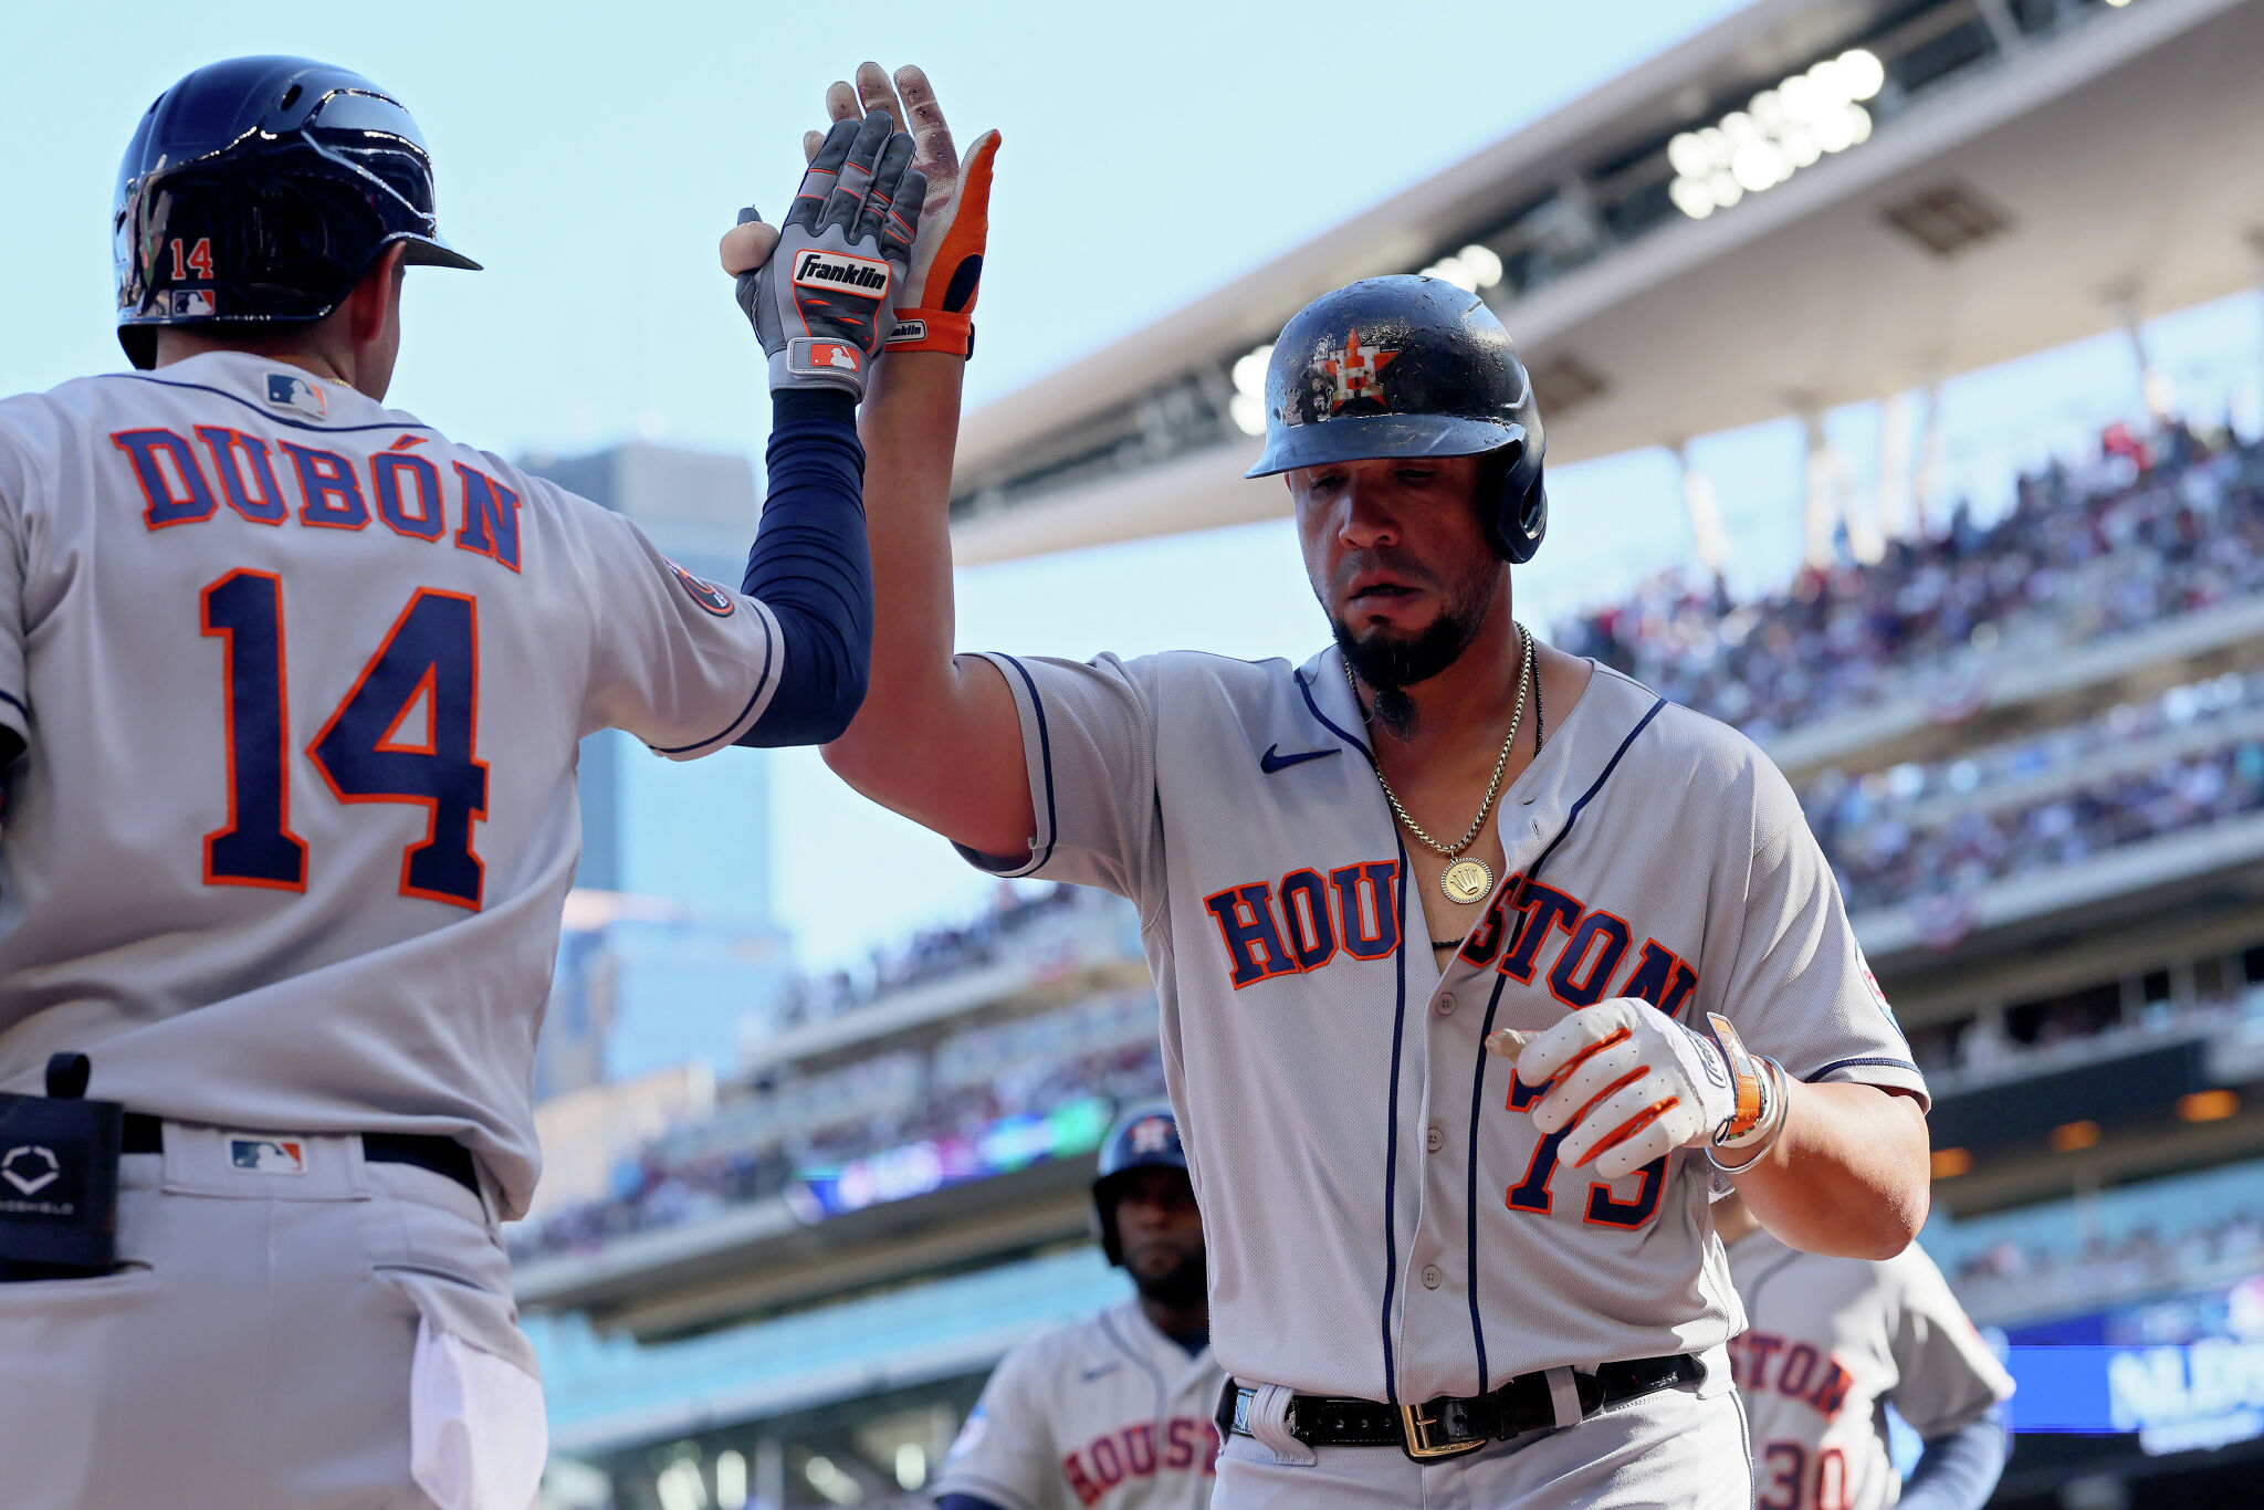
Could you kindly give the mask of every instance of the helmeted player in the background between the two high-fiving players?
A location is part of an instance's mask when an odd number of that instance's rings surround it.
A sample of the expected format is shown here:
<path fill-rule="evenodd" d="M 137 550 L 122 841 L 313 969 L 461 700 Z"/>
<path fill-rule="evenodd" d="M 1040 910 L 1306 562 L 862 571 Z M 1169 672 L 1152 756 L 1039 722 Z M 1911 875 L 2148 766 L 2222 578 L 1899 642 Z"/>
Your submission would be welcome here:
<path fill-rule="evenodd" d="M 1202 1211 L 1170 1103 L 1116 1118 L 1094 1227 L 1137 1295 L 1030 1338 L 992 1372 L 935 1481 L 937 1510 L 1202 1510 L 1218 1465 Z"/>

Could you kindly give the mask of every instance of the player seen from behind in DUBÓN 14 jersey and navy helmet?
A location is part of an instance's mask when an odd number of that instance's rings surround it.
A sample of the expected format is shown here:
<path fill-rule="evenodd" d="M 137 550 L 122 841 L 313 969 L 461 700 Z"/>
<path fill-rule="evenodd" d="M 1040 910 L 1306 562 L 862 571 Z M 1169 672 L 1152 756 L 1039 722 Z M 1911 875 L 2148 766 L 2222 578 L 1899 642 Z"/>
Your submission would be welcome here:
<path fill-rule="evenodd" d="M 783 229 L 727 235 L 774 407 L 729 591 L 385 407 L 403 263 L 475 267 L 392 95 L 256 57 L 143 115 L 134 371 L 0 401 L 9 1510 L 532 1501 L 496 1222 L 537 1177 L 577 740 L 681 761 L 860 702 L 854 405 L 910 156 L 844 122 Z"/>

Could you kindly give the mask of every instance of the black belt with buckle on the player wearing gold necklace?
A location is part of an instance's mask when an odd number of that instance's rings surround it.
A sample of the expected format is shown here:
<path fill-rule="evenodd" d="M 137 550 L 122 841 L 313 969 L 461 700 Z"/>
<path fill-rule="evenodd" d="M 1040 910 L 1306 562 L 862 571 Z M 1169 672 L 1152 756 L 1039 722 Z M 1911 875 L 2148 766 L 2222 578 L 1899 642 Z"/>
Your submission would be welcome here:
<path fill-rule="evenodd" d="M 1698 1358 L 1626 1358 L 1603 1363 L 1596 1372 L 1573 1370 L 1580 1395 L 1580 1417 L 1637 1395 L 1696 1383 L 1705 1376 Z M 1254 1435 L 1250 1410 L 1257 1390 L 1227 1381 L 1218 1399 L 1218 1435 Z M 1338 1399 L 1331 1395 L 1293 1395 L 1288 1433 L 1306 1447 L 1397 1447 L 1408 1458 L 1456 1458 L 1487 1442 L 1555 1426 L 1555 1397 L 1549 1374 L 1519 1374 L 1490 1395 L 1444 1397 L 1420 1406 L 1390 1406 L 1374 1399 Z"/>

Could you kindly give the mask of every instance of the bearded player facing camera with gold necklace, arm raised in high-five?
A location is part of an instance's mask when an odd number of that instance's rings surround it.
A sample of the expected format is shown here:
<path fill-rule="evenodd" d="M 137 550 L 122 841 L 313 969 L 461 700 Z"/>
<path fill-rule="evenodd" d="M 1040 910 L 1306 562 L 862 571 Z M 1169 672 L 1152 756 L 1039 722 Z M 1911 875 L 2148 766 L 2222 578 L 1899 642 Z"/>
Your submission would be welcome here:
<path fill-rule="evenodd" d="M 835 115 L 890 106 L 858 84 Z M 872 697 L 826 761 L 1137 903 L 1234 1376 L 1216 1503 L 1746 1505 L 1716 1184 L 1899 1252 L 1924 1082 L 1768 758 L 1512 620 L 1546 505 L 1501 324 L 1392 276 L 1281 331 L 1252 473 L 1333 629 L 1304 666 L 953 657 L 960 376 L 892 360 L 867 405 Z"/>

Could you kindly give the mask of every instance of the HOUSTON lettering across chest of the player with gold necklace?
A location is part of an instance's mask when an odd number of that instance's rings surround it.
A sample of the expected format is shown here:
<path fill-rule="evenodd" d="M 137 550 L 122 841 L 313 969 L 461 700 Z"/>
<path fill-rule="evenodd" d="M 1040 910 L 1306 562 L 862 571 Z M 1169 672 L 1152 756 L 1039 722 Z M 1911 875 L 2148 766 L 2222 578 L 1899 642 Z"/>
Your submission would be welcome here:
<path fill-rule="evenodd" d="M 1338 865 L 1327 876 L 1293 869 L 1279 885 L 1250 881 L 1202 899 L 1227 949 L 1227 983 L 1238 992 L 1277 976 L 1327 967 L 1338 951 L 1354 960 L 1383 960 L 1399 949 L 1399 863 Z M 1515 917 L 1515 926 L 1512 926 Z M 1460 960 L 1492 964 L 1530 983 L 1542 951 L 1562 940 L 1549 964 L 1549 992 L 1569 1007 L 1592 1007 L 1607 996 L 1641 996 L 1669 1016 L 1698 989 L 1698 971 L 1675 951 L 1646 937 L 1635 964 L 1612 989 L 1635 944 L 1628 919 L 1589 908 L 1578 896 L 1510 876 L 1463 942 Z"/>

